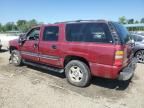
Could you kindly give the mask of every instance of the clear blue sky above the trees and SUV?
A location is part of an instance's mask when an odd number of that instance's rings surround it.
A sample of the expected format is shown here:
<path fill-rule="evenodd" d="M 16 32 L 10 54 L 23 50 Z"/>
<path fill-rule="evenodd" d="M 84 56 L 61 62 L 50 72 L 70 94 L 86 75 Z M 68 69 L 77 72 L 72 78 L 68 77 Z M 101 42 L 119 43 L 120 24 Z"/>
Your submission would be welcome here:
<path fill-rule="evenodd" d="M 120 16 L 140 20 L 144 0 L 0 0 L 0 22 L 36 19 L 54 23 L 71 20 L 106 19 Z"/>

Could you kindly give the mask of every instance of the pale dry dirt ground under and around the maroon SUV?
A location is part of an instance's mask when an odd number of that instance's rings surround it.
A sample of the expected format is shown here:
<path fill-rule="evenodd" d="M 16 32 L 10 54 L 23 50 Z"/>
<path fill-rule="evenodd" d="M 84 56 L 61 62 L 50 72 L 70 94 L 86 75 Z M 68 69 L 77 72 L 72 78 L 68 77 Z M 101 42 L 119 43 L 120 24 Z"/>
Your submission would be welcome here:
<path fill-rule="evenodd" d="M 8 63 L 0 52 L 0 108 L 144 108 L 144 64 L 130 83 L 93 78 L 86 88 L 67 83 L 63 74 Z"/>

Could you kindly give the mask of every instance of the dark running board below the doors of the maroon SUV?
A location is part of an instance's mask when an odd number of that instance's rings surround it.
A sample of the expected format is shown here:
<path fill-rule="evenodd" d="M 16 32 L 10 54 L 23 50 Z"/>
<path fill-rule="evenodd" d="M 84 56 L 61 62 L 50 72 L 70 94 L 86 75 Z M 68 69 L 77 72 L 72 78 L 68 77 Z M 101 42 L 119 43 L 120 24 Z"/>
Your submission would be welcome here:
<path fill-rule="evenodd" d="M 28 62 L 28 61 L 25 61 L 25 60 L 23 60 L 23 63 L 27 64 L 27 65 L 34 66 L 34 67 L 40 67 L 40 68 L 45 69 L 45 70 L 50 70 L 50 71 L 54 71 L 54 72 L 58 72 L 58 73 L 64 73 L 64 69 L 53 68 L 53 67 L 49 67 L 47 65 L 42 65 L 42 64 L 37 64 L 37 63 L 33 63 L 33 62 Z"/>

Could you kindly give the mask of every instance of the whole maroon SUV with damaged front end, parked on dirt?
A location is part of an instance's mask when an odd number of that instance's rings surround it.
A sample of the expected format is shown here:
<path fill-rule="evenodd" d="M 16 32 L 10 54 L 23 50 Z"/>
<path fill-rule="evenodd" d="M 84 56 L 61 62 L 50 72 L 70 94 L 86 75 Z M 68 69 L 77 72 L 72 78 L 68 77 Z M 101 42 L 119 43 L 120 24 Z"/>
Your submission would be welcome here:
<path fill-rule="evenodd" d="M 10 41 L 10 60 L 63 73 L 75 86 L 92 76 L 128 80 L 136 68 L 132 39 L 121 24 L 81 20 L 41 25 Z"/>

